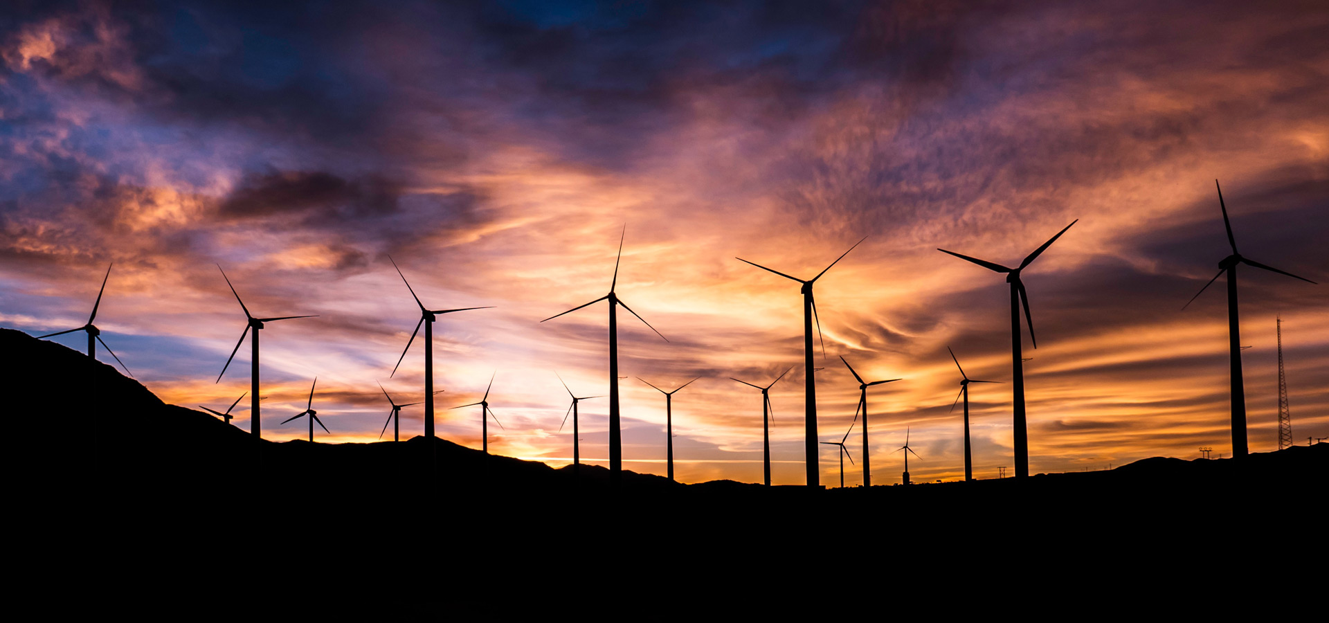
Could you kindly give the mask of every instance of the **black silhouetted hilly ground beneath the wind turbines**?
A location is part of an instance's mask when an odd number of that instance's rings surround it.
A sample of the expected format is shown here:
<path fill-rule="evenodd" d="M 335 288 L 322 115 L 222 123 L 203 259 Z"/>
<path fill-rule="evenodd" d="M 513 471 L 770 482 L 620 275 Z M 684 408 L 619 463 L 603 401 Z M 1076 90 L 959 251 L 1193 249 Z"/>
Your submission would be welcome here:
<path fill-rule="evenodd" d="M 31 364 L 7 393 L 44 397 L 9 414 L 41 428 L 11 440 L 11 595 L 68 615 L 1324 612 L 1326 444 L 908 488 L 613 488 L 444 440 L 255 442 L 58 344 L 0 329 L 0 352 Z M 52 422 L 64 441 L 35 441 Z"/>

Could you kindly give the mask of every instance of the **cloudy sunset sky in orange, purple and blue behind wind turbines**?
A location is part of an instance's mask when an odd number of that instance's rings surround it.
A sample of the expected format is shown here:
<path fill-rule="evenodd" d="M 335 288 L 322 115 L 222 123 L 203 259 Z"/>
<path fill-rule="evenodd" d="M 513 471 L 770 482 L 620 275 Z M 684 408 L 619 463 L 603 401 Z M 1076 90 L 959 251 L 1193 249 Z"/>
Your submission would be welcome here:
<path fill-rule="evenodd" d="M 571 460 L 567 395 L 607 393 L 618 295 L 625 469 L 803 484 L 803 311 L 816 286 L 820 441 L 868 380 L 876 484 L 1011 466 L 1007 266 L 1026 272 L 1030 469 L 1229 456 L 1229 254 L 1241 268 L 1252 452 L 1277 448 L 1282 344 L 1293 434 L 1329 436 L 1329 4 L 1197 3 L 47 3 L 0 16 L 0 325 L 97 325 L 167 402 L 225 409 L 263 332 L 264 437 L 315 409 L 320 441 L 368 442 L 423 400 L 432 308 L 439 434 Z M 76 349 L 82 333 L 56 337 Z M 100 359 L 112 361 L 100 352 Z M 249 399 L 235 425 L 249 429 Z M 423 430 L 403 410 L 403 434 Z M 861 425 L 861 420 L 860 420 Z M 607 401 L 582 402 L 582 457 L 607 458 Z M 860 429 L 849 436 L 861 482 Z M 322 433 L 322 432 L 320 432 Z M 51 429 L 49 434 L 58 434 Z M 391 437 L 391 430 L 388 430 Z M 839 484 L 835 446 L 821 481 Z"/>

